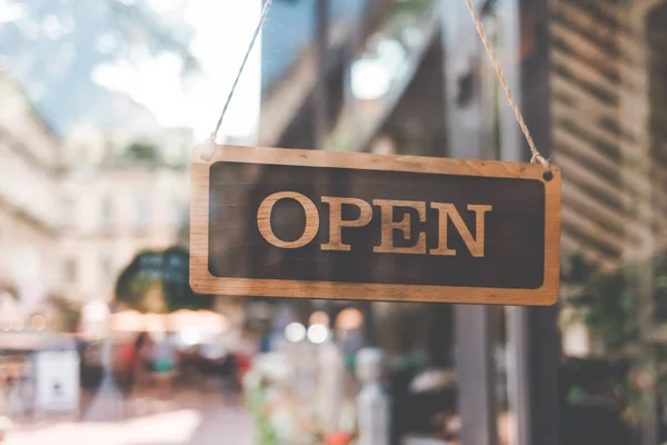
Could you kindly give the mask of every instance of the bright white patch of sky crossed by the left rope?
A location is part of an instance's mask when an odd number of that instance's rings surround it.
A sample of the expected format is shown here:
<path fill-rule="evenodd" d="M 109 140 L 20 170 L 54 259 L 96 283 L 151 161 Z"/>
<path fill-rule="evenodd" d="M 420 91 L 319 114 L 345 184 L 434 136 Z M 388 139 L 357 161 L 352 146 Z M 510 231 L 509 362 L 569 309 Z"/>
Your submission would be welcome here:
<path fill-rule="evenodd" d="M 0 4 L 2 1 L 0 0 Z M 125 0 L 130 1 L 130 0 Z M 196 138 L 208 137 L 240 67 L 261 13 L 259 1 L 149 0 L 168 20 L 182 18 L 195 30 L 190 50 L 200 72 L 182 81 L 181 59 L 170 52 L 146 55 L 98 66 L 96 83 L 131 97 L 165 127 L 189 127 Z M 222 126 L 222 135 L 255 134 L 261 97 L 261 39 L 258 39 Z"/>

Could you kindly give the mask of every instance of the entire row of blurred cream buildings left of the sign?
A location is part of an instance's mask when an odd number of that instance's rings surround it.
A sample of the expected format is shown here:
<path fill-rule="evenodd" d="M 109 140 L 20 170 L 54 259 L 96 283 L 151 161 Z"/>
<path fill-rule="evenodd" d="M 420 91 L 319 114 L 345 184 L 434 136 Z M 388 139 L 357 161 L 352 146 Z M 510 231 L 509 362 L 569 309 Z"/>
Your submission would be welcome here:
<path fill-rule="evenodd" d="M 78 125 L 61 140 L 7 73 L 0 91 L 0 293 L 109 300 L 135 255 L 178 243 L 191 131 L 138 109 L 133 125 Z"/>

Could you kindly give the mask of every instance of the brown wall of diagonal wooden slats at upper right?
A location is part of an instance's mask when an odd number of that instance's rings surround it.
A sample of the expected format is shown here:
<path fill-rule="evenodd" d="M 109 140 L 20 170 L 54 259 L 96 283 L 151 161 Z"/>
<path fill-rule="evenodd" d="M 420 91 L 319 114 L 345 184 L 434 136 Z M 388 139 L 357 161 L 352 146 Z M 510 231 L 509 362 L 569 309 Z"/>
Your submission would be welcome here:
<path fill-rule="evenodd" d="M 554 144 L 565 171 L 563 249 L 614 268 L 665 240 L 653 231 L 665 216 L 664 192 L 656 187 L 665 176 L 656 162 L 665 107 L 658 49 L 664 30 L 656 23 L 666 7 L 557 0 L 551 8 Z"/>

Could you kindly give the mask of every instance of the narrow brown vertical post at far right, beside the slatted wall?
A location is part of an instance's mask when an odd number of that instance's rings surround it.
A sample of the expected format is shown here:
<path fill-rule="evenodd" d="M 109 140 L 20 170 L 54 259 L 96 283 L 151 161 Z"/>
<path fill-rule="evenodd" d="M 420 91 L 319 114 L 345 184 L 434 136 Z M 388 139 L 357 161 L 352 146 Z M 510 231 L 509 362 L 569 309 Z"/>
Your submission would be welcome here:
<path fill-rule="evenodd" d="M 633 175 L 640 174 L 651 179 L 651 187 L 637 190 L 628 194 L 624 202 L 624 211 L 627 217 L 633 218 L 634 229 L 639 237 L 630 236 L 626 239 L 624 258 L 628 263 L 651 264 L 656 251 L 656 230 L 659 229 L 655 225 L 656 217 L 659 210 L 656 208 L 655 188 L 659 184 L 656 180 L 655 167 L 655 141 L 651 134 L 647 131 L 646 122 L 650 122 L 656 116 L 653 115 L 651 96 L 655 96 L 655 80 L 651 78 L 651 48 L 649 40 L 649 22 L 648 18 L 654 13 L 660 13 L 660 6 L 664 2 L 634 2 L 631 3 L 628 17 L 628 24 L 635 36 L 643 36 L 631 47 L 631 55 L 628 55 L 633 66 L 629 70 L 621 70 L 624 83 L 637 82 L 637 88 L 621 89 L 620 109 L 621 116 L 629 128 L 635 130 L 635 150 L 633 156 L 623 156 L 623 161 L 627 165 L 621 167 L 623 181 L 631 184 L 629 178 Z M 657 49 L 657 48 L 656 48 Z M 658 51 L 661 51 L 660 48 Z M 636 69 L 635 67 L 643 67 Z M 661 72 L 661 67 L 659 72 Z M 660 75 L 659 75 L 660 76 Z M 630 80 L 631 79 L 631 80 Z M 651 85 L 653 83 L 653 85 Z M 653 87 L 653 88 L 651 88 Z M 651 119 L 653 118 L 653 119 Z M 630 167 L 631 166 L 631 167 Z M 625 177 L 627 175 L 627 177 Z M 641 385 L 641 407 L 640 425 L 638 428 L 638 444 L 657 445 L 661 443 L 660 436 L 660 419 L 658 418 L 658 389 L 657 379 L 650 377 L 651 372 L 657 372 L 658 363 L 656 357 L 656 346 L 651 342 L 651 333 L 655 333 L 655 274 L 654 268 L 647 267 L 628 267 L 624 271 L 627 277 L 627 291 L 633 296 L 634 305 L 637 310 L 637 322 L 639 326 L 639 350 L 640 353 L 633 359 L 633 368 L 636 373 L 648 378 Z"/>

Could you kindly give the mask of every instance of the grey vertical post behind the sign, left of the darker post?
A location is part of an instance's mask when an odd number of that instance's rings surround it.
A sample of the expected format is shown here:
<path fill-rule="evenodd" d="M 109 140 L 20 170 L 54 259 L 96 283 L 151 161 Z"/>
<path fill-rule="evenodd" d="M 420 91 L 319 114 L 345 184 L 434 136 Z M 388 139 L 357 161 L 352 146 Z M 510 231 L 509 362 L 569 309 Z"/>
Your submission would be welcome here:
<path fill-rule="evenodd" d="M 442 0 L 441 4 L 449 156 L 481 158 L 481 141 L 488 125 L 479 78 L 481 46 L 464 1 Z M 491 308 L 457 305 L 455 319 L 461 443 L 495 445 L 498 433 Z"/>

